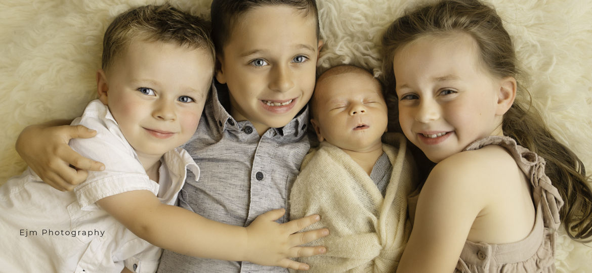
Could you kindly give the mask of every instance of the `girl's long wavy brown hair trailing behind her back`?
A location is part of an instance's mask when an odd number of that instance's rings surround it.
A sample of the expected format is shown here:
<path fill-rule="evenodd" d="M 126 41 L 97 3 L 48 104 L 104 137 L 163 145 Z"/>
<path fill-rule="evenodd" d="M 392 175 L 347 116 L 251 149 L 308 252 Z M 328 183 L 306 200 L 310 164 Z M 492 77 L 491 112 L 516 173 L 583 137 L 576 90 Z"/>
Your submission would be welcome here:
<path fill-rule="evenodd" d="M 493 8 L 477 0 L 439 1 L 408 12 L 384 33 L 382 71 L 390 98 L 396 98 L 392 61 L 397 50 L 419 37 L 458 31 L 477 41 L 482 63 L 491 74 L 500 78 L 519 76 L 510 35 Z M 545 173 L 565 202 L 559 213 L 568 235 L 578 241 L 592 241 L 590 178 L 577 155 L 549 132 L 533 108 L 529 93 L 520 85 L 514 104 L 504 115 L 502 128 L 518 144 L 545 158 Z"/>

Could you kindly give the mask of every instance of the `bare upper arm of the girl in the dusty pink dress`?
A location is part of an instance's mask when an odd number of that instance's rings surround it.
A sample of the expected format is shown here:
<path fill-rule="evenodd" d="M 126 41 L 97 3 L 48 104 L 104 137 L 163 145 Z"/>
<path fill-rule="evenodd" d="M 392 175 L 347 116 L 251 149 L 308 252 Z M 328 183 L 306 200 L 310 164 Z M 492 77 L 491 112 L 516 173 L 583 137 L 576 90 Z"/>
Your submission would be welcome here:
<path fill-rule="evenodd" d="M 454 271 L 472 223 L 487 202 L 484 187 L 471 171 L 469 163 L 452 161 L 432 170 L 419 196 L 398 273 Z"/>

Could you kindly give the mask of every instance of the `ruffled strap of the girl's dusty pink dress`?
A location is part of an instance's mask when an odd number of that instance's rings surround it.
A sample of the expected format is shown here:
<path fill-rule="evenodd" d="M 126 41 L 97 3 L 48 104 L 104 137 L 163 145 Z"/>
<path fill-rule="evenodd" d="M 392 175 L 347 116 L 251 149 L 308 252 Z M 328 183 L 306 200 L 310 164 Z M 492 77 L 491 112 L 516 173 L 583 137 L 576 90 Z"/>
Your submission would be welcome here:
<path fill-rule="evenodd" d="M 561 209 L 564 202 L 557 188 L 552 185 L 551 180 L 545 174 L 545 159 L 539 157 L 535 152 L 518 145 L 510 137 L 492 136 L 483 138 L 473 142 L 465 150 L 477 150 L 487 145 L 499 145 L 510 152 L 514 160 L 516 160 L 516 164 L 530 178 L 533 200 L 535 206 L 540 204 L 543 210 L 545 227 L 558 229 L 561 224 L 559 209 Z"/>

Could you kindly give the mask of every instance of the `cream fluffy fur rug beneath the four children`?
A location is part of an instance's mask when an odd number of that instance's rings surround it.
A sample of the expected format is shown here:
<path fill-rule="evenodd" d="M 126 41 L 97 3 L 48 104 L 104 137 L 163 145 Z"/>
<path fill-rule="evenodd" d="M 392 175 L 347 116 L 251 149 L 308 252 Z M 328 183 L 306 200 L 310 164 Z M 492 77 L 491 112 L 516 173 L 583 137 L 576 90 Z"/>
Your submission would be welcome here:
<path fill-rule="evenodd" d="M 211 1 L 211 0 L 210 0 Z M 209 17 L 208 0 L 173 5 Z M 410 0 L 317 0 L 325 40 L 320 70 L 340 63 L 376 69 L 379 39 Z M 102 34 L 111 19 L 148 0 L 0 2 L 0 184 L 25 165 L 14 150 L 28 124 L 73 119 L 95 96 Z M 492 2 L 514 38 L 534 105 L 556 137 L 592 170 L 592 2 Z M 379 73 L 378 70 L 377 73 Z M 560 233 L 558 272 L 592 272 L 592 249 Z"/>

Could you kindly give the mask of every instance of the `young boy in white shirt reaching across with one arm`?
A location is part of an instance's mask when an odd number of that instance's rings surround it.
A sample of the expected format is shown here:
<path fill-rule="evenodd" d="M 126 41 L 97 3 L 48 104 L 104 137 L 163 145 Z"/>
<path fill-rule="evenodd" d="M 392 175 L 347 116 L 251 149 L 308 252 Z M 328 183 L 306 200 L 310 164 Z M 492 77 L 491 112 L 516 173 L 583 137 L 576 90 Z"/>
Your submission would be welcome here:
<path fill-rule="evenodd" d="M 99 99 L 72 123 L 94 129 L 96 137 L 70 141 L 105 170 L 90 171 L 72 192 L 54 190 L 30 169 L 0 187 L 2 269 L 154 272 L 159 247 L 306 269 L 289 258 L 322 249 L 297 245 L 323 232 L 293 233 L 318 216 L 278 224 L 284 212 L 274 210 L 243 228 L 175 206 L 188 174 L 200 177 L 197 164 L 177 147 L 197 129 L 213 68 L 202 19 L 170 5 L 115 18 L 96 74 Z"/>

